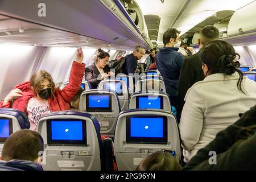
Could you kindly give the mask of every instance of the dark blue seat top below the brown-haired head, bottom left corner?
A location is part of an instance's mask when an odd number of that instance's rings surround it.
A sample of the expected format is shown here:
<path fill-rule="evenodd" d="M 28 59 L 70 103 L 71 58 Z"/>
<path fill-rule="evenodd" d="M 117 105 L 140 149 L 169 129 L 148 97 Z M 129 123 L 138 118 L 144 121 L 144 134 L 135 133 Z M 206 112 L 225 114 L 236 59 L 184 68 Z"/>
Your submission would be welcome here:
<path fill-rule="evenodd" d="M 28 160 L 0 161 L 0 171 L 43 171 L 41 165 Z"/>

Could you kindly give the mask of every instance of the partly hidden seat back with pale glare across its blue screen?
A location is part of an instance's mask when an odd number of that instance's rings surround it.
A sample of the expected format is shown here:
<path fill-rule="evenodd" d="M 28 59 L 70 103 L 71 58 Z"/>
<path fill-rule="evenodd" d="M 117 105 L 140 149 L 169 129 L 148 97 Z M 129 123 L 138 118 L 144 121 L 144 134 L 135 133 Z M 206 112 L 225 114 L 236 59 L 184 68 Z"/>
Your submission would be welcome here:
<path fill-rule="evenodd" d="M 117 93 L 121 110 L 127 110 L 129 105 L 129 92 L 124 80 L 104 80 L 98 84 L 98 89 L 113 90 Z"/>

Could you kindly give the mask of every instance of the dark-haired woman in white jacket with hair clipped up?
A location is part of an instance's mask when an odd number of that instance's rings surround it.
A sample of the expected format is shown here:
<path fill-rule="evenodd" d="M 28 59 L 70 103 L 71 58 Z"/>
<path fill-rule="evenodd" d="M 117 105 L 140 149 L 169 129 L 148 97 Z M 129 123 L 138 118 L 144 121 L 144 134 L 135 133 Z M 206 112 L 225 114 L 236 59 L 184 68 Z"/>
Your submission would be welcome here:
<path fill-rule="evenodd" d="M 256 83 L 243 77 L 237 56 L 233 46 L 222 40 L 200 50 L 206 77 L 188 90 L 179 125 L 186 163 L 219 131 L 236 122 L 238 114 L 256 104 Z"/>

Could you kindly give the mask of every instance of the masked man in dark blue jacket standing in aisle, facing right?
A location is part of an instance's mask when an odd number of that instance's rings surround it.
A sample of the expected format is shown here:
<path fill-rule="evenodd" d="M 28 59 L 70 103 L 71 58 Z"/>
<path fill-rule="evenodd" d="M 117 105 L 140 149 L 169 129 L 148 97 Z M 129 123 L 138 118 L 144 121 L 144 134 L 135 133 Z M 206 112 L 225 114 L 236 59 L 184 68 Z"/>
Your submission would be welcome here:
<path fill-rule="evenodd" d="M 177 109 L 177 83 L 180 77 L 184 56 L 177 52 L 180 43 L 180 31 L 169 28 L 163 35 L 164 48 L 156 55 L 156 66 L 161 73 L 169 94 L 171 105 Z"/>

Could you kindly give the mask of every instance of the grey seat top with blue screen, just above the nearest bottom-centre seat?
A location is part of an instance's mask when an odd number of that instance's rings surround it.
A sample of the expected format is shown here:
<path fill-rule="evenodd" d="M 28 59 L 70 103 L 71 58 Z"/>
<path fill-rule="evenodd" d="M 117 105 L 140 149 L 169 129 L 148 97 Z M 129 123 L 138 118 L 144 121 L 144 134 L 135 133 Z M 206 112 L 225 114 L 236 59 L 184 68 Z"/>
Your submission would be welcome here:
<path fill-rule="evenodd" d="M 171 103 L 166 93 L 134 93 L 129 109 L 163 109 L 171 112 Z"/>

